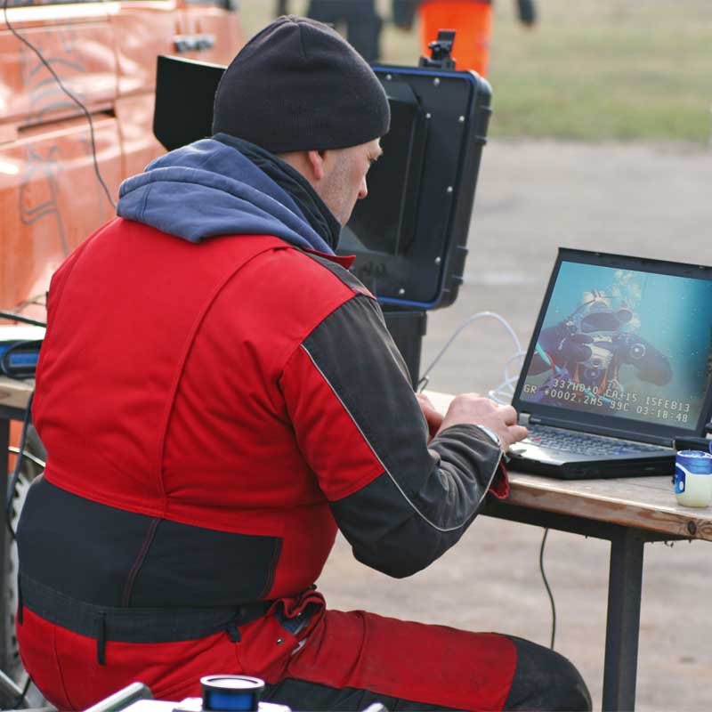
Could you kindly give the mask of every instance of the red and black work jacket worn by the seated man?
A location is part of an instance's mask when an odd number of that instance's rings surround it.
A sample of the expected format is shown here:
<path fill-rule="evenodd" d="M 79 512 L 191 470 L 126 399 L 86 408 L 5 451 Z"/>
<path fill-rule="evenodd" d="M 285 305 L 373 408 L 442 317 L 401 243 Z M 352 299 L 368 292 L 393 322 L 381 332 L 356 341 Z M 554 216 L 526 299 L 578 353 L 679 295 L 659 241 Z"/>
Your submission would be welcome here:
<path fill-rule="evenodd" d="M 394 577 L 457 542 L 500 451 L 474 425 L 428 441 L 347 263 L 124 218 L 69 256 L 37 369 L 48 461 L 18 530 L 21 605 L 100 643 L 192 639 L 302 594 L 337 528 Z"/>

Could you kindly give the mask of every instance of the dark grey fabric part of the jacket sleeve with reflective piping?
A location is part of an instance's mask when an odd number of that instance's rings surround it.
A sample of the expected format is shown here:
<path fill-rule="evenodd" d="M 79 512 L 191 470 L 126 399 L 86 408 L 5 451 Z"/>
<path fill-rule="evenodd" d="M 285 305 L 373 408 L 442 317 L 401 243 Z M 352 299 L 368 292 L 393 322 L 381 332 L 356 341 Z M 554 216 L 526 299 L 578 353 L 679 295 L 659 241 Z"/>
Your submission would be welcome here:
<path fill-rule="evenodd" d="M 462 535 L 500 451 L 474 425 L 428 443 L 425 417 L 377 303 L 356 295 L 303 342 L 383 475 L 332 511 L 354 554 L 392 576 L 424 568 Z"/>

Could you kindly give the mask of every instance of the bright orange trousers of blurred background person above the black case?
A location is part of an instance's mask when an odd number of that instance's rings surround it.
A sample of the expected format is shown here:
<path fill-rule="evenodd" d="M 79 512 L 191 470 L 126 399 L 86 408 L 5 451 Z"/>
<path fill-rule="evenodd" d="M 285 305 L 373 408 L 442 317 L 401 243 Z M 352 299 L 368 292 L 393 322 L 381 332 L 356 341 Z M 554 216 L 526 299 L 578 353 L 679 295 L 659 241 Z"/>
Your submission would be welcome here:
<path fill-rule="evenodd" d="M 425 57 L 430 56 L 428 44 L 437 39 L 439 30 L 454 29 L 456 69 L 473 69 L 481 77 L 487 76 L 492 35 L 490 0 L 425 0 L 419 12 Z"/>

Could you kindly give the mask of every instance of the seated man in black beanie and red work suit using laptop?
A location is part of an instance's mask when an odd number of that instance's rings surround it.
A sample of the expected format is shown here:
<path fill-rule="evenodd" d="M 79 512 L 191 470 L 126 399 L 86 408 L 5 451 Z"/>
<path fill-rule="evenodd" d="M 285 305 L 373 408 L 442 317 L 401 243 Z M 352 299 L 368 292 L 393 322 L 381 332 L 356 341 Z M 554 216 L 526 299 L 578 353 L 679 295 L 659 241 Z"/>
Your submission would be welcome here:
<path fill-rule="evenodd" d="M 214 137 L 126 181 L 55 274 L 18 637 L 59 708 L 132 680 L 180 700 L 209 673 L 303 710 L 589 708 L 553 652 L 328 611 L 313 586 L 337 527 L 369 566 L 425 568 L 525 433 L 473 395 L 419 406 L 334 256 L 389 121 L 349 44 L 281 18 L 226 70 Z"/>

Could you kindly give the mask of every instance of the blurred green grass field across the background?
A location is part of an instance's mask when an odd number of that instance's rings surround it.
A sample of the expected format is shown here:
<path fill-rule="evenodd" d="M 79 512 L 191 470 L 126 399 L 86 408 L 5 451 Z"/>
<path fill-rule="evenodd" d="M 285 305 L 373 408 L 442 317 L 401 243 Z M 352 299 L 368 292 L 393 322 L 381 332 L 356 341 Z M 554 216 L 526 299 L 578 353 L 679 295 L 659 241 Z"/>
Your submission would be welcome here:
<path fill-rule="evenodd" d="M 243 0 L 247 36 L 274 7 Z M 384 61 L 417 63 L 417 31 L 382 42 Z M 712 0 L 538 0 L 534 28 L 498 0 L 488 78 L 491 136 L 712 142 Z"/>

